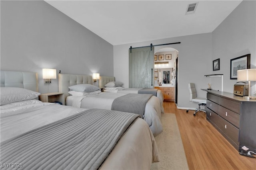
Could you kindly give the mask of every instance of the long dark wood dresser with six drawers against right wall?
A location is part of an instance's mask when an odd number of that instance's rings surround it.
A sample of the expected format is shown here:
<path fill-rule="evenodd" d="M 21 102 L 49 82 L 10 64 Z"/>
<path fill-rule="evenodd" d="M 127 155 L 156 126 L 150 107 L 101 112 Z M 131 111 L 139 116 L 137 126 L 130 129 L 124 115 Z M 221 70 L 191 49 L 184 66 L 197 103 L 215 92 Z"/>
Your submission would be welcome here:
<path fill-rule="evenodd" d="M 256 100 L 228 92 L 206 91 L 206 119 L 240 153 L 244 152 L 243 146 L 256 152 Z"/>

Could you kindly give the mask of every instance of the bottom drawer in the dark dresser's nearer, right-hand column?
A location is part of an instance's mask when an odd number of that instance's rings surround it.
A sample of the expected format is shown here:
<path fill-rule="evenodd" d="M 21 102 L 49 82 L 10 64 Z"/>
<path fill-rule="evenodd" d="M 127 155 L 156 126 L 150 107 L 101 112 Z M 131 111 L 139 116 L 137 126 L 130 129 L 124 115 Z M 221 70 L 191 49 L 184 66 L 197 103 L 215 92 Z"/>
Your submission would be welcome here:
<path fill-rule="evenodd" d="M 217 121 L 215 124 L 224 132 L 226 135 L 232 139 L 237 145 L 239 145 L 239 129 L 236 128 L 234 125 L 223 119 L 222 117 L 218 116 L 216 118 Z"/>

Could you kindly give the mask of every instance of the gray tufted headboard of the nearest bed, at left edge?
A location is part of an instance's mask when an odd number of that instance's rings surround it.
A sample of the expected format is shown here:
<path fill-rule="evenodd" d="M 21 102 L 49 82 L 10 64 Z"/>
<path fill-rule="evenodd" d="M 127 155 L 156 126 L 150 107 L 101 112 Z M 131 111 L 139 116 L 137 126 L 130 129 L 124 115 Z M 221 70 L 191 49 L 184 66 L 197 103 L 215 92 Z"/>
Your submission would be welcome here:
<path fill-rule="evenodd" d="M 1 87 L 19 87 L 38 92 L 36 72 L 1 70 Z"/>

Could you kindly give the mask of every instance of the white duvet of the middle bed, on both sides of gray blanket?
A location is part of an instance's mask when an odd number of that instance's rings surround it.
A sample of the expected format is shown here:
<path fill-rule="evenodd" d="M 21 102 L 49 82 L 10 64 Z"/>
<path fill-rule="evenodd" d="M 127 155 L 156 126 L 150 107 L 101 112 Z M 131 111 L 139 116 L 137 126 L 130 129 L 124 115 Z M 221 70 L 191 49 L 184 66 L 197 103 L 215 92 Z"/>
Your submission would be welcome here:
<path fill-rule="evenodd" d="M 114 99 L 124 95 L 126 94 L 101 92 L 100 94 L 89 96 L 68 96 L 66 98 L 66 105 L 87 109 L 111 110 Z M 144 120 L 148 123 L 154 136 L 163 131 L 160 117 L 161 104 L 156 96 L 152 96 L 146 104 Z"/>

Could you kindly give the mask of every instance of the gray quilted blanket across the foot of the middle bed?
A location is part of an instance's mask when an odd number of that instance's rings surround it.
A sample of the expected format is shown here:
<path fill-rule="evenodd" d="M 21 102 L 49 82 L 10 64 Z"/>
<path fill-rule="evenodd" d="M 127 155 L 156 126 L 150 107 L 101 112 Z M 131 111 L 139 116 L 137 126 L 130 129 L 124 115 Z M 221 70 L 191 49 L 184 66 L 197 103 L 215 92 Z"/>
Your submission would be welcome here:
<path fill-rule="evenodd" d="M 139 114 L 144 119 L 145 107 L 152 94 L 126 94 L 116 98 L 111 110 Z"/>

